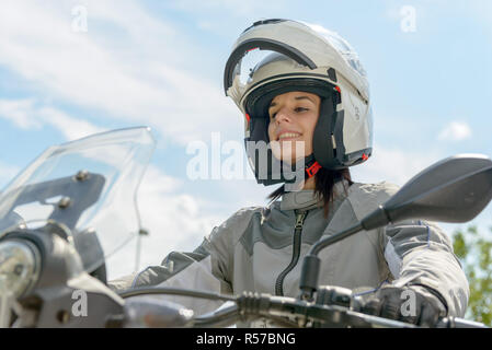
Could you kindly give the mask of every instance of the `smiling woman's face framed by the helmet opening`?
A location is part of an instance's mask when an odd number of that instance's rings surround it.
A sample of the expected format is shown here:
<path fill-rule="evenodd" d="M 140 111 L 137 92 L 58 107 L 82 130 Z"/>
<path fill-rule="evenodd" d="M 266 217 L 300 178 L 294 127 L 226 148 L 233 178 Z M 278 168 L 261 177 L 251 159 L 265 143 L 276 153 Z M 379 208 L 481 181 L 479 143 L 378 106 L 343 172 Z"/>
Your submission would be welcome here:
<path fill-rule="evenodd" d="M 290 164 L 312 153 L 321 98 L 294 91 L 275 96 L 268 107 L 268 137 L 276 159 Z"/>

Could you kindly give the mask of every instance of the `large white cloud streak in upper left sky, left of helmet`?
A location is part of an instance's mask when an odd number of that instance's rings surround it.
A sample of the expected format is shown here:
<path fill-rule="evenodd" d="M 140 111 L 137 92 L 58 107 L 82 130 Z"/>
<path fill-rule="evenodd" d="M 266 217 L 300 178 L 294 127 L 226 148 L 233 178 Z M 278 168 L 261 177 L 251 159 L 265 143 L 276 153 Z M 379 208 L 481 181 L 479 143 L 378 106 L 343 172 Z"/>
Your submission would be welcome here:
<path fill-rule="evenodd" d="M 88 32 L 77 33 L 67 5 L 3 3 L 0 65 L 43 96 L 150 125 L 178 142 L 203 138 L 218 126 L 238 128 L 238 110 L 224 96 L 220 78 L 211 83 L 201 77 L 206 68 L 196 57 L 206 52 L 193 49 L 179 31 L 135 1 L 88 1 L 87 9 Z"/>

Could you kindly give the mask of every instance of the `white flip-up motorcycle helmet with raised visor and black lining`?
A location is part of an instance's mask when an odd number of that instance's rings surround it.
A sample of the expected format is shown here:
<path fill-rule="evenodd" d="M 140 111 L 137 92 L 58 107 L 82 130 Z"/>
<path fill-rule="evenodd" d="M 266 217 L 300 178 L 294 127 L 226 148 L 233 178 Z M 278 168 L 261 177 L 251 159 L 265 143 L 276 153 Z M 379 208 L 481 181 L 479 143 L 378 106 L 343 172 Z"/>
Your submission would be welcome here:
<path fill-rule="evenodd" d="M 236 42 L 224 72 L 226 95 L 244 114 L 247 154 L 259 183 L 285 182 L 272 176 L 272 166 L 259 170 L 250 141 L 268 143 L 267 113 L 278 94 L 305 91 L 321 97 L 314 128 L 313 154 L 305 168 L 341 170 L 371 154 L 373 117 L 369 85 L 358 56 L 336 33 L 290 20 L 255 22 Z M 254 160 L 253 160 L 254 159 Z"/>

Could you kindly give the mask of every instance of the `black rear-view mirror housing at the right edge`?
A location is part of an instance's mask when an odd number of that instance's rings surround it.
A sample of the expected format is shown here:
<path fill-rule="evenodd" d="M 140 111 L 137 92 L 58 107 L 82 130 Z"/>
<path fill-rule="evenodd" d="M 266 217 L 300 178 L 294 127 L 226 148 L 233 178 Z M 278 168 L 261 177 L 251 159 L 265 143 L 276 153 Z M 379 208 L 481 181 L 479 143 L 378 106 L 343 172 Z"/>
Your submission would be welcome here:
<path fill-rule="evenodd" d="M 491 199 L 492 161 L 481 154 L 460 154 L 412 177 L 361 223 L 365 230 L 373 230 L 405 219 L 467 222 Z"/>

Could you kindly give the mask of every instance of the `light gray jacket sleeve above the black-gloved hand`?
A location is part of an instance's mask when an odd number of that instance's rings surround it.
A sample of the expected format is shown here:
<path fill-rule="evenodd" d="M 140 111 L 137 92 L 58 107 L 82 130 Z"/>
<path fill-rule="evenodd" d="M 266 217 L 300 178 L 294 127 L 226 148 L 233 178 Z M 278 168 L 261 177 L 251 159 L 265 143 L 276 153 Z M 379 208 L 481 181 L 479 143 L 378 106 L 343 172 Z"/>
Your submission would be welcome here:
<path fill-rule="evenodd" d="M 420 220 L 388 225 L 381 229 L 381 244 L 392 284 L 423 285 L 443 302 L 447 315 L 465 315 L 468 281 L 439 226 Z"/>

